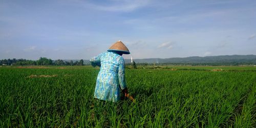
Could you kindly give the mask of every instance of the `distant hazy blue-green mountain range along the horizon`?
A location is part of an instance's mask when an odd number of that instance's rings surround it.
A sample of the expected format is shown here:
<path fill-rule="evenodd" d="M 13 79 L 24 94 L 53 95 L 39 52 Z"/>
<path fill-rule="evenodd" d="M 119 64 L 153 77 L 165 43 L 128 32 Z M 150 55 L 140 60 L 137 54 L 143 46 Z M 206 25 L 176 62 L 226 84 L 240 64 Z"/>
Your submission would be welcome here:
<path fill-rule="evenodd" d="M 191 56 L 174 58 L 146 58 L 133 59 L 136 63 L 251 63 L 256 65 L 256 55 L 220 55 L 220 56 Z M 66 60 L 70 61 L 70 60 Z M 79 61 L 79 60 L 73 60 Z M 83 60 L 84 64 L 90 64 L 89 60 Z M 125 59 L 125 63 L 131 63 L 131 59 Z"/>

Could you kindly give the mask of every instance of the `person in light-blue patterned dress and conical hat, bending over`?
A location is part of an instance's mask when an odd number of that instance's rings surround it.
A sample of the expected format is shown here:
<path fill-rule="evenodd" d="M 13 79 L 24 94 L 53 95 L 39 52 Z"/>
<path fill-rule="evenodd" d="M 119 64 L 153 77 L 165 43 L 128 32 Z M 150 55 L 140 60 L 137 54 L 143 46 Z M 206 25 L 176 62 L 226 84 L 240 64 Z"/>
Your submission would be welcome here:
<path fill-rule="evenodd" d="M 122 54 L 130 54 L 130 51 L 119 40 L 109 48 L 108 52 L 103 52 L 90 59 L 93 67 L 100 67 L 94 98 L 117 102 L 120 100 L 121 92 L 128 93 Z"/>

